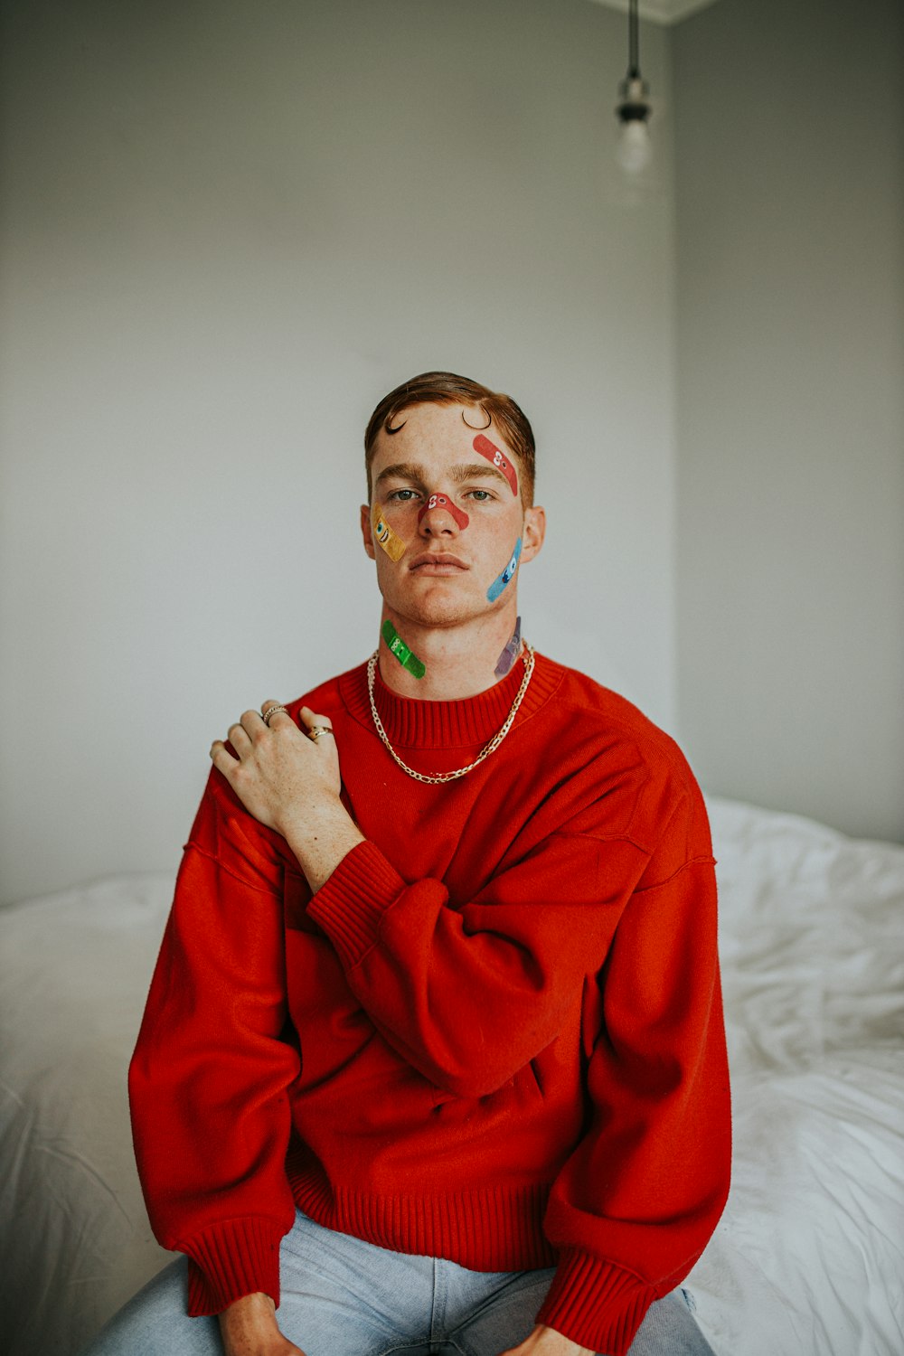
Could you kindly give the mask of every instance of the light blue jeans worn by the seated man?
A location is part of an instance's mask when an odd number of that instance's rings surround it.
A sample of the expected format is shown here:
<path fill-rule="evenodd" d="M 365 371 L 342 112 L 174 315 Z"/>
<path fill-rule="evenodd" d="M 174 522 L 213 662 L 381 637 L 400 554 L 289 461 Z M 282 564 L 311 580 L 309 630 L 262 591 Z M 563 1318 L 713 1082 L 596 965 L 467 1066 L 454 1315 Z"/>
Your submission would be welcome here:
<path fill-rule="evenodd" d="M 393 1253 L 301 1212 L 279 1253 L 281 1332 L 305 1356 L 500 1356 L 534 1326 L 552 1269 L 474 1272 Z M 222 1356 L 215 1318 L 186 1315 L 186 1261 L 164 1268 L 81 1356 Z M 652 1304 L 630 1356 L 713 1356 L 682 1292 Z"/>

